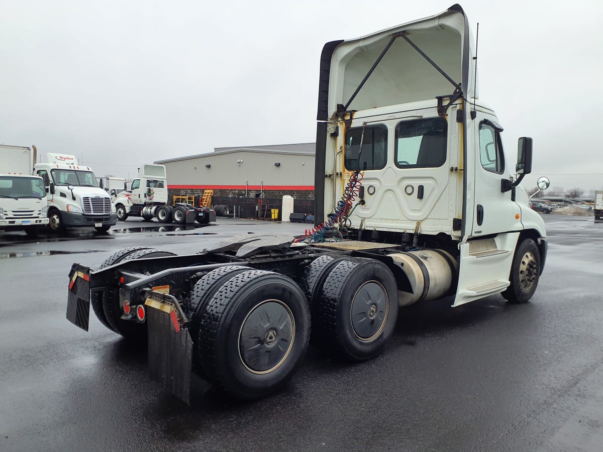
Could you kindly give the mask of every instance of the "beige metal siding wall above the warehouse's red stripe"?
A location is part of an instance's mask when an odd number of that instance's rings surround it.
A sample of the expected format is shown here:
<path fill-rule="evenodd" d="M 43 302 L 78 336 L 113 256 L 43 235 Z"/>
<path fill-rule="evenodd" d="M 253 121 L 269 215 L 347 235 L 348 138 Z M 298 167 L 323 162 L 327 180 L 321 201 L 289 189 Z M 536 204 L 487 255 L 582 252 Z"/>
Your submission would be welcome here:
<path fill-rule="evenodd" d="M 208 164 L 211 168 L 205 168 Z M 165 167 L 170 185 L 314 185 L 314 155 L 241 151 L 168 162 Z"/>

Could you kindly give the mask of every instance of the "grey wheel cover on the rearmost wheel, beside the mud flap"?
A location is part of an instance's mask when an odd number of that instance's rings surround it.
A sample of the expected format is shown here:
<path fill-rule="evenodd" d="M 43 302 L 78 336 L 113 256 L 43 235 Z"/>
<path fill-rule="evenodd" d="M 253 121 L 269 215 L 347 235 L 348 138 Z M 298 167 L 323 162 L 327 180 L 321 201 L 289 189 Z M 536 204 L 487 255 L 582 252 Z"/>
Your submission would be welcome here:
<path fill-rule="evenodd" d="M 295 320 L 285 303 L 266 300 L 245 317 L 239 330 L 239 357 L 248 371 L 269 374 L 287 359 L 295 338 Z"/>

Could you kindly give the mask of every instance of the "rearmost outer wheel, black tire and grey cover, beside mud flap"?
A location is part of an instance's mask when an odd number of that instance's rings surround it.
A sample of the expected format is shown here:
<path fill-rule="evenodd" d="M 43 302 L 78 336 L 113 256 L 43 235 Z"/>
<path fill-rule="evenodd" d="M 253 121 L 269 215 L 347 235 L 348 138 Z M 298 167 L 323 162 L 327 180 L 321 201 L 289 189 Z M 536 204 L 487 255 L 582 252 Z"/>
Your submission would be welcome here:
<path fill-rule="evenodd" d="M 309 333 L 310 312 L 297 284 L 274 272 L 248 270 L 226 281 L 203 309 L 201 369 L 235 397 L 264 397 L 297 370 Z"/>

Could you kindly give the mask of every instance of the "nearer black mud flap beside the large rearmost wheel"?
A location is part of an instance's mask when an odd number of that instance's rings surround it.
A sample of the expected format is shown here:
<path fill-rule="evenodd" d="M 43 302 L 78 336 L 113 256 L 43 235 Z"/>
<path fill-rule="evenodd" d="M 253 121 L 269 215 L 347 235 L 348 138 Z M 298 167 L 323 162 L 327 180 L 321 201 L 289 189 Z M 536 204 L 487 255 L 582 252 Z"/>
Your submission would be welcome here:
<path fill-rule="evenodd" d="M 160 297 L 160 294 L 157 294 Z M 164 296 L 169 297 L 169 295 Z M 182 327 L 179 309 L 174 304 L 148 297 L 149 375 L 163 388 L 189 404 L 191 393 L 192 339 Z"/>

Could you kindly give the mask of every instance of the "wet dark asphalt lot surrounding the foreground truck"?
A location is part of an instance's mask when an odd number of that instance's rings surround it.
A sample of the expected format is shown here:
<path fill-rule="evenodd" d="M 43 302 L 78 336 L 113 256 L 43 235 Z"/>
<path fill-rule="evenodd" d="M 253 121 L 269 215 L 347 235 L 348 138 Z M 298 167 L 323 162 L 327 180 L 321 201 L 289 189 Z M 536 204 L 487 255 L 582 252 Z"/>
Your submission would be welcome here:
<path fill-rule="evenodd" d="M 130 219 L 33 241 L 0 232 L 0 450 L 600 451 L 603 224 L 543 218 L 549 255 L 531 303 L 407 307 L 370 362 L 311 349 L 279 394 L 243 403 L 195 380 L 191 406 L 147 377 L 144 349 L 93 315 L 89 333 L 65 319 L 71 264 L 99 266 L 132 245 L 194 253 L 306 225 L 159 230 Z"/>

